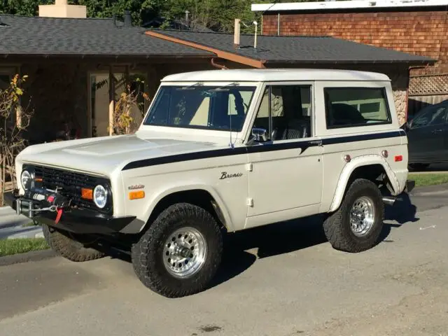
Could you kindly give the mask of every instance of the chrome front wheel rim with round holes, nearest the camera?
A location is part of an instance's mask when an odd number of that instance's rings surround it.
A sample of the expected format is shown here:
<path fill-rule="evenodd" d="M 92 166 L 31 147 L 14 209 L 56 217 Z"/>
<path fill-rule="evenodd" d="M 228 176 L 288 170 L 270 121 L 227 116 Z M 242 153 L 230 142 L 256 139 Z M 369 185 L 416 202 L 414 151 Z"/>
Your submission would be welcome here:
<path fill-rule="evenodd" d="M 207 242 L 195 228 L 181 228 L 169 236 L 163 247 L 167 271 L 178 278 L 198 272 L 207 258 Z"/>

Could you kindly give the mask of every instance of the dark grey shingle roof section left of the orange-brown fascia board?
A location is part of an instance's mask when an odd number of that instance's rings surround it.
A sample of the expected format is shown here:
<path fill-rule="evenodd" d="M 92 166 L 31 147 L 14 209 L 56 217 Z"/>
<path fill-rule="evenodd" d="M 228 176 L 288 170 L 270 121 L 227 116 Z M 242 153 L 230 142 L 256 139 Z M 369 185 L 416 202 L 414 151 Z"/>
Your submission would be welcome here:
<path fill-rule="evenodd" d="M 214 56 L 113 19 L 0 15 L 0 55 Z"/>

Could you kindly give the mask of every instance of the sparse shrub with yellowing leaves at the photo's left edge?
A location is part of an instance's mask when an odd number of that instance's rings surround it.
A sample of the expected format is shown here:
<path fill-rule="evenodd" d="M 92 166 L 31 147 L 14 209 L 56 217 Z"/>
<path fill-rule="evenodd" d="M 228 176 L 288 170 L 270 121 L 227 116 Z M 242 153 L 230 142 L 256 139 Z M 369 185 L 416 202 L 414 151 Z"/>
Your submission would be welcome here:
<path fill-rule="evenodd" d="M 6 181 L 10 180 L 13 187 L 17 186 L 14 160 L 27 146 L 23 135 L 29 126 L 32 112 L 24 109 L 20 102 L 24 93 L 23 83 L 27 78 L 26 75 L 16 74 L 10 85 L 0 90 L 0 195 L 5 191 Z"/>

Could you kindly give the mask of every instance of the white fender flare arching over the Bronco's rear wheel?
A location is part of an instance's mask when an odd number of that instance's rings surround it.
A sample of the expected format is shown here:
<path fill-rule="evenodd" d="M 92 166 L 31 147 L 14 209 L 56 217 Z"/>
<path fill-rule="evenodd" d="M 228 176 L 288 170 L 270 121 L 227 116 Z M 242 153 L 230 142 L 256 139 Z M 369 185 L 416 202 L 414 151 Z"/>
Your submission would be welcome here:
<path fill-rule="evenodd" d="M 342 197 L 344 197 L 347 183 L 349 182 L 353 171 L 358 167 L 370 165 L 381 165 L 384 168 L 384 172 L 386 172 L 389 181 L 391 181 L 391 186 L 393 188 L 392 194 L 397 195 L 399 193 L 399 190 L 401 190 L 400 182 L 387 161 L 382 156 L 377 154 L 361 155 L 351 159 L 351 161 L 345 165 L 344 169 L 342 169 L 341 175 L 339 176 L 339 181 L 337 182 L 335 195 L 333 196 L 328 212 L 336 211 L 337 208 L 339 208 L 339 205 L 342 203 Z"/>

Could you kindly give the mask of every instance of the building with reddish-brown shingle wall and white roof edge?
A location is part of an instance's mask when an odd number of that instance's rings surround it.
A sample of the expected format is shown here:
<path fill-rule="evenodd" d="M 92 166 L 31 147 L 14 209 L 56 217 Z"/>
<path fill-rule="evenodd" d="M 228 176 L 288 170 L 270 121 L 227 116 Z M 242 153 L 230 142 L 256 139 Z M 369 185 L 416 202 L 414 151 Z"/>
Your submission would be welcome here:
<path fill-rule="evenodd" d="M 409 69 L 409 114 L 448 99 L 448 0 L 354 0 L 253 4 L 262 33 L 322 35 L 436 59 Z"/>

